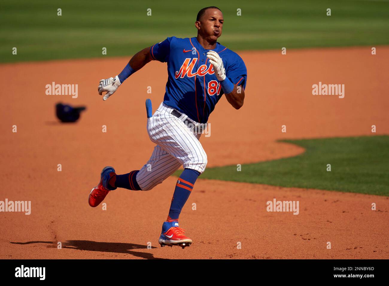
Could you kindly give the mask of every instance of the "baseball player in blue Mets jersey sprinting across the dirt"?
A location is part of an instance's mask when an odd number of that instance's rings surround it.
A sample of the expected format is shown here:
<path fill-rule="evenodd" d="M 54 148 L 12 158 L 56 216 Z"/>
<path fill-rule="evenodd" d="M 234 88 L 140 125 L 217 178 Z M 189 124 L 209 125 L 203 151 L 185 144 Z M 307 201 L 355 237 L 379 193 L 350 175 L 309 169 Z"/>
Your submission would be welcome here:
<path fill-rule="evenodd" d="M 239 109 L 243 105 L 247 81 L 245 64 L 217 39 L 222 34 L 223 13 L 217 7 L 206 7 L 197 14 L 197 37 L 166 40 L 135 54 L 123 71 L 115 77 L 102 79 L 98 92 L 107 100 L 134 72 L 149 61 L 167 63 L 168 81 L 163 102 L 154 114 L 146 101 L 147 132 L 156 144 L 149 161 L 140 169 L 117 175 L 114 168 L 105 167 L 100 183 L 89 194 L 89 205 L 96 207 L 116 188 L 147 191 L 172 175 L 180 166 L 180 175 L 173 193 L 170 210 L 162 225 L 161 246 L 190 246 L 192 240 L 179 227 L 179 215 L 207 165 L 207 154 L 200 135 L 209 114 L 219 99 Z"/>

